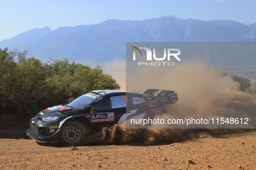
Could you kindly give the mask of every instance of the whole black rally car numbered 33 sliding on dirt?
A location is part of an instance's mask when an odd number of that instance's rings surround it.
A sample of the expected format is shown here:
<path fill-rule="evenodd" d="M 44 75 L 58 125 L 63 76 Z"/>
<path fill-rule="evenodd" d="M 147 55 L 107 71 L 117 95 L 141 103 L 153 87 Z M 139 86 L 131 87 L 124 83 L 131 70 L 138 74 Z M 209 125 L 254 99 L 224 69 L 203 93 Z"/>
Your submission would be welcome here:
<path fill-rule="evenodd" d="M 175 91 L 148 89 L 143 94 L 96 90 L 68 104 L 49 107 L 33 117 L 27 129 L 36 142 L 75 145 L 104 127 L 121 125 L 126 119 L 153 119 L 166 113 L 165 104 L 178 101 Z"/>

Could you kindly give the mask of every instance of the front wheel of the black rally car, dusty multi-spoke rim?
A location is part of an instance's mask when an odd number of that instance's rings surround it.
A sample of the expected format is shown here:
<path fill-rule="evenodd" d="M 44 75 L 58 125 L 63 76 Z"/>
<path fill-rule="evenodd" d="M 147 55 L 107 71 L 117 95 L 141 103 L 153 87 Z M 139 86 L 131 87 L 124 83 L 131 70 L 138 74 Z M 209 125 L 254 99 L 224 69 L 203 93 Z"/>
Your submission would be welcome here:
<path fill-rule="evenodd" d="M 78 145 L 87 137 L 86 126 L 81 122 L 68 122 L 62 126 L 60 142 L 63 145 Z"/>

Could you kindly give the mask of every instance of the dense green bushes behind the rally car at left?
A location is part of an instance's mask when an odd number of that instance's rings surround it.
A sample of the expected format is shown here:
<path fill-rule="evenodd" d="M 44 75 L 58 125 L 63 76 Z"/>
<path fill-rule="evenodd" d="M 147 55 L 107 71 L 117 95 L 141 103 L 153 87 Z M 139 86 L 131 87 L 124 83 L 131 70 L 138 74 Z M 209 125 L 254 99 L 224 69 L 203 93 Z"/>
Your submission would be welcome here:
<path fill-rule="evenodd" d="M 92 69 L 66 58 L 42 63 L 34 57 L 26 59 L 26 54 L 0 49 L 0 110 L 16 118 L 31 117 L 92 90 L 120 88 L 100 66 Z"/>

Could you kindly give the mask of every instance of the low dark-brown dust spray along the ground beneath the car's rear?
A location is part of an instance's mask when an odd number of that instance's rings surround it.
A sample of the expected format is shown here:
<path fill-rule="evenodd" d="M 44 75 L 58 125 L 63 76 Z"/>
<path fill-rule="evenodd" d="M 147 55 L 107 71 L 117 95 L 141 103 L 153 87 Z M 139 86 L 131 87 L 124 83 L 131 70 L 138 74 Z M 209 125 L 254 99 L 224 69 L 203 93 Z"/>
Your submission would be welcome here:
<path fill-rule="evenodd" d="M 253 131 L 253 129 L 126 129 L 125 122 L 110 128 L 104 127 L 101 135 L 88 137 L 81 145 L 123 145 L 130 143 L 160 145 L 244 131 Z"/>

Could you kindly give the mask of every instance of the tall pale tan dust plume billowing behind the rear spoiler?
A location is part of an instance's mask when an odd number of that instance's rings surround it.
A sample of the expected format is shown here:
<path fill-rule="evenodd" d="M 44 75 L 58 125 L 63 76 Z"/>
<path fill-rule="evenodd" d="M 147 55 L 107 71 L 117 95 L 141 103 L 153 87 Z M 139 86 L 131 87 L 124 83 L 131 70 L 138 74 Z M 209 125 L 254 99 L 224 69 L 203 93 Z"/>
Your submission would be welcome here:
<path fill-rule="evenodd" d="M 221 72 L 209 69 L 200 58 L 185 60 L 177 66 L 159 67 L 157 70 L 138 67 L 136 72 L 141 74 L 127 77 L 129 89 L 143 93 L 149 88 L 156 88 L 178 93 L 178 101 L 166 105 L 172 117 L 194 119 L 211 117 L 214 120 L 220 116 L 243 117 L 248 118 L 249 122 L 255 122 L 256 99 L 240 91 L 240 84 L 234 82 L 230 76 L 223 76 Z M 249 128 L 249 126 L 239 124 L 230 126 L 226 123 L 219 128 Z"/>

